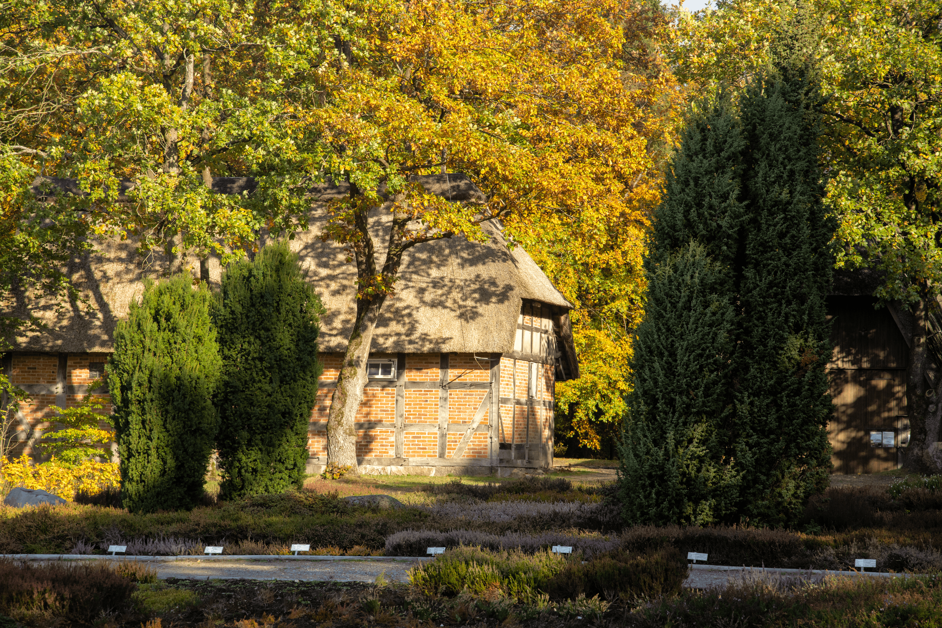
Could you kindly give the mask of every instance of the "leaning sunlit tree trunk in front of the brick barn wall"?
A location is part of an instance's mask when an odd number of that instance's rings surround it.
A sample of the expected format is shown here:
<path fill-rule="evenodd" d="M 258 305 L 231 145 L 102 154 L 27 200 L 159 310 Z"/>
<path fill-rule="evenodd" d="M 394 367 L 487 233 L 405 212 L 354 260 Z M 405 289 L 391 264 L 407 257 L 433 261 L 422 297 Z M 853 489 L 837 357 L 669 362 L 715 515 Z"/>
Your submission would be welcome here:
<path fill-rule="evenodd" d="M 353 331 L 347 343 L 347 353 L 340 365 L 337 388 L 333 390 L 331 409 L 327 416 L 327 464 L 349 465 L 357 473 L 356 413 L 363 402 L 366 386 L 366 359 L 373 344 L 373 331 L 380 319 L 382 297 L 362 302 Z"/>

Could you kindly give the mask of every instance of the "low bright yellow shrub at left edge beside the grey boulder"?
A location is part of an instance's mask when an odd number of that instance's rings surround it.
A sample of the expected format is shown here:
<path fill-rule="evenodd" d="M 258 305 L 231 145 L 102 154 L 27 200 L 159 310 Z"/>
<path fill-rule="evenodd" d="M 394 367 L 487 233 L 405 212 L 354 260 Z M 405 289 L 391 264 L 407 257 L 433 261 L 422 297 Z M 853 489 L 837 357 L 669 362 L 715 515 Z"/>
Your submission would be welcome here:
<path fill-rule="evenodd" d="M 0 458 L 0 485 L 42 488 L 66 500 L 73 500 L 78 490 L 96 492 L 121 485 L 116 462 L 85 460 L 77 465 L 64 465 L 53 458 L 34 465 L 26 454 L 16 460 Z"/>

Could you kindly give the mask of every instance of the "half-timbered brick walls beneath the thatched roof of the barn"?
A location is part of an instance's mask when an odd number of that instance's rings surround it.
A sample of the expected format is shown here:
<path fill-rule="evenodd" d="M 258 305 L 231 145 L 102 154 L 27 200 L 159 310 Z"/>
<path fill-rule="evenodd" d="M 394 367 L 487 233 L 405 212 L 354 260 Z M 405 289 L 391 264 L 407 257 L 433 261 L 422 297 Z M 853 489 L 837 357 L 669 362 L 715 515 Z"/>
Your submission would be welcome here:
<path fill-rule="evenodd" d="M 395 380 L 370 380 L 356 416 L 356 454 L 368 465 L 552 465 L 556 336 L 554 312 L 525 302 L 513 351 L 505 354 L 372 354 L 396 360 Z M 21 412 L 21 451 L 32 454 L 53 425 L 52 405 L 81 400 L 106 354 L 8 355 L 11 381 L 33 401 Z M 308 432 L 309 465 L 324 464 L 327 418 L 342 355 L 324 365 Z M 102 390 L 106 399 L 106 389 Z M 105 411 L 110 411 L 106 405 Z M 498 462 L 499 460 L 499 462 Z M 416 462 L 418 461 L 418 462 Z M 431 461 L 431 462 L 429 462 Z"/>

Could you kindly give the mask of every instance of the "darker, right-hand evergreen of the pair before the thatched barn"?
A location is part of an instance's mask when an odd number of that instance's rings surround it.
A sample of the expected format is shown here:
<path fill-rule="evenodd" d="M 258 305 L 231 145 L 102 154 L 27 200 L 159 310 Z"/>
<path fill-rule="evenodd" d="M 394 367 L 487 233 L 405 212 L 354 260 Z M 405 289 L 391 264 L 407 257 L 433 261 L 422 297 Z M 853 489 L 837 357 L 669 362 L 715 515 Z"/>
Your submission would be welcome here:
<path fill-rule="evenodd" d="M 223 273 L 213 319 L 223 363 L 216 405 L 224 499 L 300 488 L 322 311 L 284 242 Z"/>

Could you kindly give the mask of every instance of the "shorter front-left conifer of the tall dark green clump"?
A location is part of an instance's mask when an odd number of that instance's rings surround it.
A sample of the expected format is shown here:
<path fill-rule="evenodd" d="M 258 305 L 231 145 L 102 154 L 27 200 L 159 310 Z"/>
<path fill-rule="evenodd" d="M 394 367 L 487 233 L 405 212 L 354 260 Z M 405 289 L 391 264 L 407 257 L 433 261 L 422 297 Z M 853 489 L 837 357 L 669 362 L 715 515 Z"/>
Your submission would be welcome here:
<path fill-rule="evenodd" d="M 646 359 L 635 361 L 634 421 L 622 447 L 627 521 L 711 523 L 736 503 L 739 473 L 721 432 L 736 322 L 725 271 L 691 241 L 648 273 L 634 345 Z"/>

